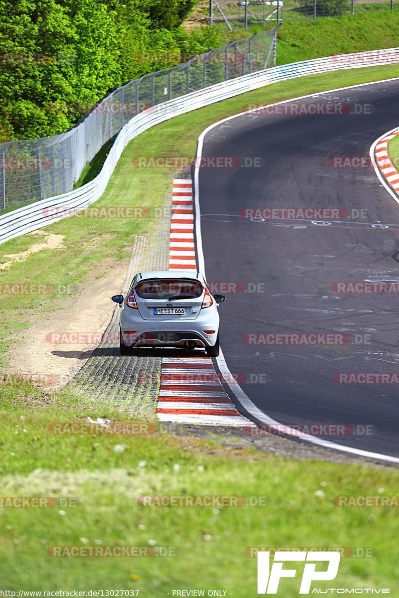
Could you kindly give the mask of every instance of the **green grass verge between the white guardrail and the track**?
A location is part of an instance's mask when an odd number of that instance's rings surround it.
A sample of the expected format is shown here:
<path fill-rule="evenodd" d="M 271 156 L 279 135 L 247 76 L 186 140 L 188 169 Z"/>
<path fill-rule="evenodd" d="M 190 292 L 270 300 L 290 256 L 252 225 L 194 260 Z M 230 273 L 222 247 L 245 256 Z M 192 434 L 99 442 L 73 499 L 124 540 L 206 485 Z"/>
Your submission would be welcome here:
<path fill-rule="evenodd" d="M 233 97 L 224 102 L 172 118 L 133 139 L 124 150 L 111 181 L 95 206 L 138 206 L 149 208 L 151 214 L 165 204 L 170 188 L 172 167 L 133 167 L 133 159 L 157 155 L 193 157 L 197 137 L 209 124 L 246 109 L 249 103 L 267 103 L 314 93 L 334 87 L 398 77 L 399 67 L 383 66 L 353 71 L 310 75 L 292 81 L 266 86 Z M 179 139 L 176 149 L 176 139 Z M 64 236 L 63 248 L 44 249 L 28 260 L 14 263 L 0 271 L 0 285 L 12 283 L 42 283 L 67 286 L 72 294 L 84 276 L 101 260 L 120 260 L 130 254 L 136 233 L 151 233 L 156 219 L 150 218 L 66 218 L 43 230 Z M 7 254 L 28 251 L 41 237 L 26 235 L 0 245 L 0 266 L 9 260 Z M 65 267 L 68 264 L 68 267 Z M 5 365 L 5 352 L 15 333 L 28 327 L 33 318 L 44 317 L 48 309 L 60 306 L 58 295 L 0 295 L 0 366 Z"/>

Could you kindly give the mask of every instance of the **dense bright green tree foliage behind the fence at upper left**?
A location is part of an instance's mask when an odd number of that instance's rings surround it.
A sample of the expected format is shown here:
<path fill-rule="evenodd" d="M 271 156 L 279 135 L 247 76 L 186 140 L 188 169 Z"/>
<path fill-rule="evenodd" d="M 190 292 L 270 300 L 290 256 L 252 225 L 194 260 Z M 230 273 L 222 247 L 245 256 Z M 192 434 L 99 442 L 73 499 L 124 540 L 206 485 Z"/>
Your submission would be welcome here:
<path fill-rule="evenodd" d="M 0 0 L 0 143 L 65 131 L 109 90 L 218 45 L 181 28 L 192 5 Z"/>

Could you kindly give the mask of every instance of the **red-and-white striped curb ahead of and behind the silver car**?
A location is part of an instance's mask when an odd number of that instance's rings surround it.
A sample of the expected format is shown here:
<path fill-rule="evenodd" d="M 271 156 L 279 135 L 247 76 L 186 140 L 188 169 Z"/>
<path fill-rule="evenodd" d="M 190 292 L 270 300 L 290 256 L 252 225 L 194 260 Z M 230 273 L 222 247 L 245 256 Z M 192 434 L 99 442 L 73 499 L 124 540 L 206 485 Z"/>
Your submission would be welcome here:
<path fill-rule="evenodd" d="M 174 179 L 169 270 L 197 269 L 191 179 Z M 206 426 L 253 426 L 234 407 L 210 357 L 162 359 L 157 417 L 161 422 Z"/>

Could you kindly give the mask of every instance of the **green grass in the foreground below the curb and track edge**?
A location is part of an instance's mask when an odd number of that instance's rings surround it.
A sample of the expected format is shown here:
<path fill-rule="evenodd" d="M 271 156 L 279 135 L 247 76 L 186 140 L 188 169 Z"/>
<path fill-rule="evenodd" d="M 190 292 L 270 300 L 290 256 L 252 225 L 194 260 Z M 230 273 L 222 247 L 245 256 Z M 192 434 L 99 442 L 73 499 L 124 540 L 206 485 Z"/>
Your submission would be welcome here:
<path fill-rule="evenodd" d="M 32 396 L 35 391 L 32 390 Z M 368 547 L 369 559 L 341 560 L 337 587 L 398 590 L 394 508 L 339 508 L 336 495 L 394 495 L 399 473 L 364 466 L 283 460 L 251 450 L 168 434 L 49 434 L 51 422 L 90 415 L 121 417 L 57 395 L 44 407 L 7 402 L 2 418 L 1 496 L 74 497 L 77 507 L 3 509 L 2 590 L 139 589 L 167 596 L 179 588 L 223 588 L 256 595 L 256 559 L 247 547 Z M 23 419 L 21 419 L 21 417 Z M 117 444 L 123 452 L 114 451 Z M 317 494 L 316 494 L 317 492 Z M 142 507 L 141 495 L 266 496 L 260 507 Z M 60 514 L 59 511 L 64 512 Z M 143 545 L 175 547 L 154 558 L 54 558 L 48 547 Z M 130 575 L 139 576 L 132 581 Z M 283 581 L 284 597 L 297 580 Z M 331 582 L 317 584 L 331 587 Z"/>

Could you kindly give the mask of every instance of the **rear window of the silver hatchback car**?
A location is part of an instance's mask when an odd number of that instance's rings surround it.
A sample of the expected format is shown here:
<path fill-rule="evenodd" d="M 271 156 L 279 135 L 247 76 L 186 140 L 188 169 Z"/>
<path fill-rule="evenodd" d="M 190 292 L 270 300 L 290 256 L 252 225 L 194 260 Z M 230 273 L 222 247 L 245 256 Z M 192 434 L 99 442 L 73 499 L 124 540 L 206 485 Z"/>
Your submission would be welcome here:
<path fill-rule="evenodd" d="M 157 278 L 141 280 L 136 285 L 135 292 L 142 299 L 169 299 L 185 295 L 196 298 L 202 295 L 203 286 L 199 280 L 188 278 Z"/>

